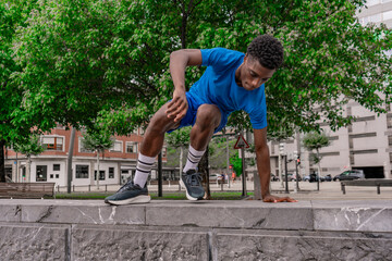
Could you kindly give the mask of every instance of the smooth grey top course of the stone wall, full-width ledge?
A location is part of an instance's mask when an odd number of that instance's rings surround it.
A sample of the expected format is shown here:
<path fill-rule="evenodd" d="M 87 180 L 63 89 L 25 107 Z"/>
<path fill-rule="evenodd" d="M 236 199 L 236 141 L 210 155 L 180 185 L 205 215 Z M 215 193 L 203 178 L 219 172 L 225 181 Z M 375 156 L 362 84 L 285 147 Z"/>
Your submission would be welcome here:
<path fill-rule="evenodd" d="M 392 201 L 173 201 L 113 207 L 101 200 L 0 200 L 0 222 L 392 232 Z"/>

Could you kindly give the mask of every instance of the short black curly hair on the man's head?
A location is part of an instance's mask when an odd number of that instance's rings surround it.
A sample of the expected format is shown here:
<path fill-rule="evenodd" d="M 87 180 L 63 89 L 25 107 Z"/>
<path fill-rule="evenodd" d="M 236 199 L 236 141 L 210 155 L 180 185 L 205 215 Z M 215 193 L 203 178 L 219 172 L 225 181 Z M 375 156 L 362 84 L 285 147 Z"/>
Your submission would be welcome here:
<path fill-rule="evenodd" d="M 247 53 L 256 59 L 264 67 L 274 70 L 283 63 L 283 46 L 270 35 L 256 37 L 248 46 Z"/>

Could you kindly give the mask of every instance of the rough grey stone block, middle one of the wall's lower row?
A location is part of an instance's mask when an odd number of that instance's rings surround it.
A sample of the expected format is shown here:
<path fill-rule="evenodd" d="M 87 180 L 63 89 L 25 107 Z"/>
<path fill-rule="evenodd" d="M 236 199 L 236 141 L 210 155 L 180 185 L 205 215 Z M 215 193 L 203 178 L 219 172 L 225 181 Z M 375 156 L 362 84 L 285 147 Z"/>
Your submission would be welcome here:
<path fill-rule="evenodd" d="M 140 228 L 74 226 L 72 260 L 209 260 L 207 233 Z"/>

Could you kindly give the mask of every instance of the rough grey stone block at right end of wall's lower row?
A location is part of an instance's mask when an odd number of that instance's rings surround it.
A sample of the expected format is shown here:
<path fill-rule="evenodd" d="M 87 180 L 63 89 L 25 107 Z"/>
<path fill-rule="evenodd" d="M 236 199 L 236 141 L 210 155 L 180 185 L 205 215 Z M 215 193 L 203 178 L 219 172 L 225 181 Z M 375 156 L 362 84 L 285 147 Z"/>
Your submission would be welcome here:
<path fill-rule="evenodd" d="M 392 235 L 218 231 L 213 260 L 392 260 Z"/>

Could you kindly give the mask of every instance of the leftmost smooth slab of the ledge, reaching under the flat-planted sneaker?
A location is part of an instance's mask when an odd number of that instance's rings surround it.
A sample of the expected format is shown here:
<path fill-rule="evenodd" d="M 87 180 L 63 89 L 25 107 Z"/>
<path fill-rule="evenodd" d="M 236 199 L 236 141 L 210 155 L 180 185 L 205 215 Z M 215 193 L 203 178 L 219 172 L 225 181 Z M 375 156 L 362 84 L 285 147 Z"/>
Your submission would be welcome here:
<path fill-rule="evenodd" d="M 144 204 L 108 206 L 102 200 L 0 199 L 0 221 L 72 224 L 145 224 Z M 19 217 L 20 216 L 20 217 Z"/>

